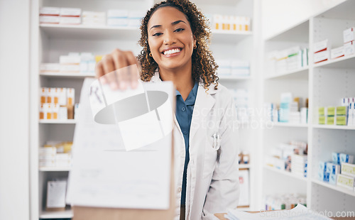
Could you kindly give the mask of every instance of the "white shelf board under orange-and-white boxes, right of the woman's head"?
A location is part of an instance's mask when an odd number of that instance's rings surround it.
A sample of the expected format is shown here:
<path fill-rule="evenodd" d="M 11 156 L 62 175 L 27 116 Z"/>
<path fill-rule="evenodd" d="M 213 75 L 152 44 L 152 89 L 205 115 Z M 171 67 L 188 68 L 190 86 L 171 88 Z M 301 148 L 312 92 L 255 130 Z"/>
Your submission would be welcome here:
<path fill-rule="evenodd" d="M 212 43 L 238 43 L 245 38 L 253 35 L 251 31 L 226 31 L 226 30 L 211 30 Z"/>

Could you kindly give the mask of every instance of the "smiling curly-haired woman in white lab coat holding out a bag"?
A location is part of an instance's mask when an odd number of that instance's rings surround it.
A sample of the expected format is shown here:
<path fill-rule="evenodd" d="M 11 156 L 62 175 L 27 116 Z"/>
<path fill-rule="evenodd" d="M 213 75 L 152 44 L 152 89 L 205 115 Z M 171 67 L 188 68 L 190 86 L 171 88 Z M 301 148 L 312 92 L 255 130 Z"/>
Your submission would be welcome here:
<path fill-rule="evenodd" d="M 175 84 L 176 219 L 214 219 L 214 213 L 236 208 L 239 199 L 236 111 L 217 82 L 209 34 L 195 4 L 163 1 L 143 18 L 138 60 L 116 49 L 97 64 L 98 77 L 136 64 L 141 80 Z M 106 79 L 112 89 L 136 87 L 134 75 L 116 78 Z"/>

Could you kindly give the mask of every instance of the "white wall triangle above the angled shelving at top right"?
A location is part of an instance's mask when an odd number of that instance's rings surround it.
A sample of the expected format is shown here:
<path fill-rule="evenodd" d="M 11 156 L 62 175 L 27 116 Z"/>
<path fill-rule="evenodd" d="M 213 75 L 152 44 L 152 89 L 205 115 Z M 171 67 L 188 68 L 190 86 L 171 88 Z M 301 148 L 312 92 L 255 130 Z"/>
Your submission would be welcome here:
<path fill-rule="evenodd" d="M 344 0 L 263 0 L 263 38 L 283 31 L 285 28 L 303 21 Z"/>

